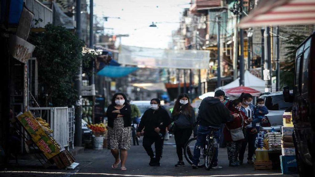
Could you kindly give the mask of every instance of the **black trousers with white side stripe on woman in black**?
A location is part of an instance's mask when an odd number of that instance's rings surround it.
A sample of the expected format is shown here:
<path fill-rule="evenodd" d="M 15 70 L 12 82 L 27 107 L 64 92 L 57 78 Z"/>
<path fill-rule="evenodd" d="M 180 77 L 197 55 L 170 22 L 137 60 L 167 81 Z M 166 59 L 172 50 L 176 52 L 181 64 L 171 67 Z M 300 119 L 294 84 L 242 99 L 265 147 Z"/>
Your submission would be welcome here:
<path fill-rule="evenodd" d="M 163 139 L 160 136 L 153 136 L 148 137 L 144 136 L 142 141 L 142 146 L 146 150 L 146 153 L 152 158 L 154 157 L 154 152 L 152 150 L 152 144 L 154 143 L 155 146 L 155 157 L 157 162 L 160 162 L 163 154 L 163 143 L 164 143 L 164 137 Z"/>

